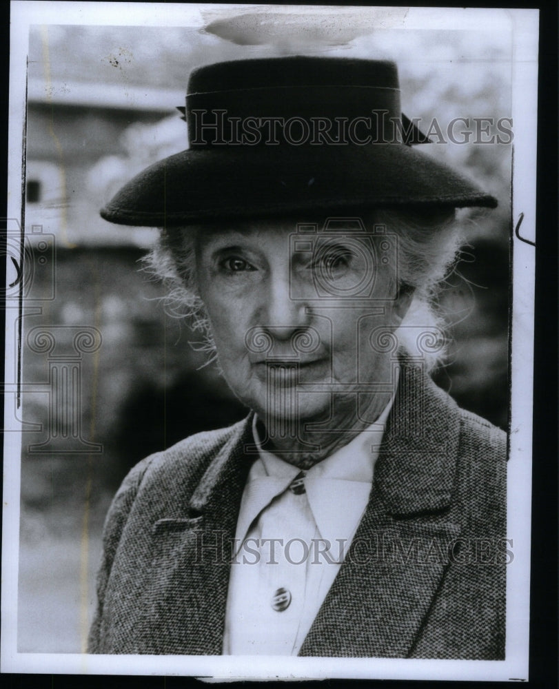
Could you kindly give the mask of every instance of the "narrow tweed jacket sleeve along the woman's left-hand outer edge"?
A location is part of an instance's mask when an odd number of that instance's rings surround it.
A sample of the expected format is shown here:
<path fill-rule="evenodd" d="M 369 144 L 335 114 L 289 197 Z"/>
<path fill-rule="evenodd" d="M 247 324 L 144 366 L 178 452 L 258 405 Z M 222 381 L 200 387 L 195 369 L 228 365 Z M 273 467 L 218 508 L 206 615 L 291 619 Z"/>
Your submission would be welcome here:
<path fill-rule="evenodd" d="M 105 590 L 110 577 L 112 563 L 119 546 L 121 535 L 128 521 L 128 515 L 136 500 L 136 493 L 143 479 L 145 471 L 150 466 L 156 455 L 145 457 L 144 460 L 136 464 L 123 480 L 121 487 L 116 492 L 112 504 L 105 518 L 103 527 L 103 554 L 101 556 L 101 566 L 97 573 L 97 607 L 93 618 L 92 626 L 88 637 L 88 652 L 102 653 L 101 623 L 103 621 L 103 601 Z"/>

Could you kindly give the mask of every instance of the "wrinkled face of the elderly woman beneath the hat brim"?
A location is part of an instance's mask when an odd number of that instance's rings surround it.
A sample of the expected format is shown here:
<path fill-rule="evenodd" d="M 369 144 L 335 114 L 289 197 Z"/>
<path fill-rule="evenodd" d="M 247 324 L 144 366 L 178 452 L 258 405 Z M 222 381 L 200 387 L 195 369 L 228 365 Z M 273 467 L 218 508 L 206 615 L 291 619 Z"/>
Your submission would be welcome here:
<path fill-rule="evenodd" d="M 374 422 L 393 382 L 381 334 L 409 300 L 396 298 L 396 251 L 394 236 L 373 240 L 352 222 L 202 230 L 199 294 L 236 396 L 263 420 Z"/>

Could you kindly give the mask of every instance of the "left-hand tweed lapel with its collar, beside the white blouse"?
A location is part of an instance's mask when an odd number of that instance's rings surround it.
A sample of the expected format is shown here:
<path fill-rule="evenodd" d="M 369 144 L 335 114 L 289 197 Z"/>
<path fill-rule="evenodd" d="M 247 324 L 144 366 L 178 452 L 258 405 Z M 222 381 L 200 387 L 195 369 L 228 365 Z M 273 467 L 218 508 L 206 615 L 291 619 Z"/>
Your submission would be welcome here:
<path fill-rule="evenodd" d="M 252 416 L 212 460 L 186 515 L 154 524 L 159 581 L 152 582 L 157 593 L 146 613 L 157 620 L 152 637 L 166 652 L 221 654 L 231 544 L 251 464 L 244 452 L 252 442 L 251 424 Z"/>

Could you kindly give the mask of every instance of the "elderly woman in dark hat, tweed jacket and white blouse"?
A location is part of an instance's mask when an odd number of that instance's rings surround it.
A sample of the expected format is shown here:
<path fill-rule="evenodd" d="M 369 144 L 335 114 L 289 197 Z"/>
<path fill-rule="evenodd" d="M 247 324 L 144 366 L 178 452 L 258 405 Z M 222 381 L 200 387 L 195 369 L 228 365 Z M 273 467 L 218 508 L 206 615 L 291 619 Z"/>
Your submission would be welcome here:
<path fill-rule="evenodd" d="M 188 150 L 103 217 L 252 411 L 140 462 L 105 524 L 97 653 L 502 659 L 505 438 L 427 376 L 454 209 L 382 61 L 219 63 Z"/>

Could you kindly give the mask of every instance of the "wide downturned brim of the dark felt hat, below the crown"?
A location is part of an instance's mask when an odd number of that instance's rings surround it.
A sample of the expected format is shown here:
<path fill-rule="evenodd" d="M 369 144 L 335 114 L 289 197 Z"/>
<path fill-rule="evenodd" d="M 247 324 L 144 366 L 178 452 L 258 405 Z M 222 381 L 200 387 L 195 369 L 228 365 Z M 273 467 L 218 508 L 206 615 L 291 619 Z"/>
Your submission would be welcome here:
<path fill-rule="evenodd" d="M 451 167 L 403 144 L 185 150 L 136 175 L 101 210 L 162 227 L 358 207 L 497 205 Z"/>

